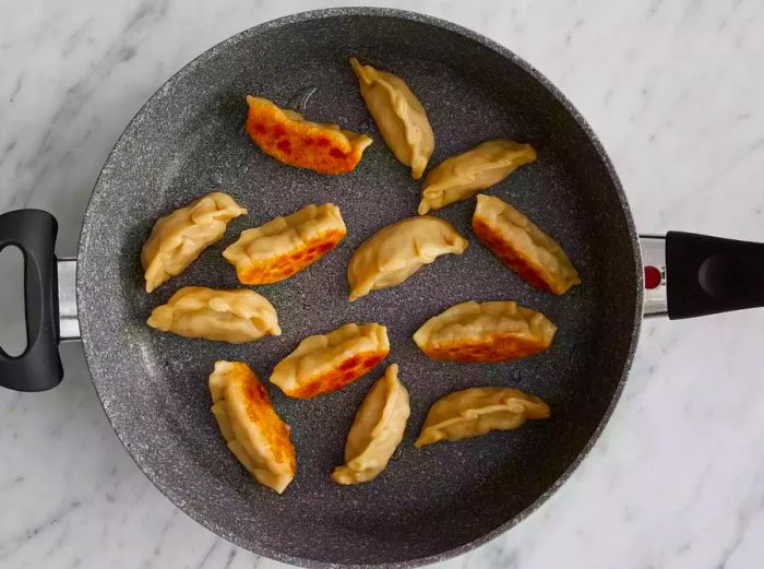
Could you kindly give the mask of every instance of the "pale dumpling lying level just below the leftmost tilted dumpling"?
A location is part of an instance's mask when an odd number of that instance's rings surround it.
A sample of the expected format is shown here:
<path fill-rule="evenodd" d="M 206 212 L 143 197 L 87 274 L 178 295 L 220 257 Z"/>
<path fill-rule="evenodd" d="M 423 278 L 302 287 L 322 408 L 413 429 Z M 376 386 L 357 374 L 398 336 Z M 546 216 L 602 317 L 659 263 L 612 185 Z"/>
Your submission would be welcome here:
<path fill-rule="evenodd" d="M 229 344 L 282 333 L 273 305 L 254 291 L 184 286 L 157 306 L 147 323 L 163 332 Z"/>

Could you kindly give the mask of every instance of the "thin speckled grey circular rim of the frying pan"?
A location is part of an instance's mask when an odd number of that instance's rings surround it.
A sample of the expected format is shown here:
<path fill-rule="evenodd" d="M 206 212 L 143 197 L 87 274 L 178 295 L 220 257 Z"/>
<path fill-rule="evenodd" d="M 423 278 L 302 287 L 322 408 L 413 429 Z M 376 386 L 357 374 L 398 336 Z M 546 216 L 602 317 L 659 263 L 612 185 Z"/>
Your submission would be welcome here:
<path fill-rule="evenodd" d="M 530 75 L 536 82 L 538 82 L 545 90 L 547 90 L 550 95 L 558 102 L 560 103 L 565 111 L 575 120 L 575 122 L 578 125 L 578 127 L 584 131 L 588 140 L 592 142 L 594 149 L 596 150 L 600 161 L 602 162 L 602 165 L 605 166 L 607 174 L 613 185 L 613 188 L 617 192 L 617 197 L 625 220 L 625 225 L 626 225 L 626 230 L 629 233 L 629 239 L 631 241 L 632 246 L 632 253 L 634 258 L 634 263 L 636 266 L 636 280 L 634 282 L 635 289 L 633 291 L 634 296 L 635 296 L 635 303 L 634 303 L 634 316 L 633 316 L 633 327 L 632 327 L 632 336 L 631 336 L 631 343 L 629 345 L 629 349 L 626 353 L 625 360 L 623 363 L 623 369 L 621 371 L 621 376 L 618 380 L 618 383 L 616 386 L 616 389 L 613 391 L 612 398 L 605 410 L 605 413 L 602 414 L 602 417 L 598 425 L 596 426 L 595 430 L 593 431 L 592 436 L 589 437 L 588 441 L 584 446 L 584 448 L 576 454 L 576 457 L 571 461 L 571 463 L 568 465 L 565 471 L 538 497 L 536 500 L 534 500 L 529 506 L 527 506 L 523 511 L 514 515 L 512 519 L 508 520 L 506 522 L 502 523 L 501 525 L 494 527 L 490 532 L 487 532 L 486 534 L 481 535 L 480 537 L 473 540 L 470 542 L 467 542 L 465 544 L 457 545 L 455 547 L 452 547 L 450 549 L 439 552 L 433 555 L 429 555 L 426 557 L 420 557 L 416 559 L 409 559 L 405 561 L 391 561 L 391 562 L 382 562 L 382 564 L 336 564 L 336 562 L 331 562 L 331 561 L 320 561 L 315 559 L 309 559 L 305 557 L 295 557 L 289 554 L 285 554 L 280 550 L 273 549 L 268 546 L 264 546 L 262 544 L 258 544 L 256 549 L 253 548 L 250 544 L 246 544 L 242 540 L 238 537 L 238 535 L 232 534 L 228 532 L 227 530 L 218 526 L 216 523 L 212 522 L 211 520 L 206 519 L 202 512 L 199 512 L 193 505 L 190 505 L 183 500 L 183 498 L 176 493 L 176 490 L 170 487 L 169 485 L 166 485 L 164 481 L 159 479 L 158 476 L 153 476 L 147 472 L 147 469 L 144 469 L 143 460 L 136 457 L 133 451 L 130 449 L 128 446 L 128 441 L 123 438 L 122 434 L 118 429 L 117 425 L 112 420 L 112 417 L 108 411 L 108 404 L 105 402 L 105 394 L 102 393 L 99 389 L 99 381 L 96 380 L 95 376 L 92 372 L 92 365 L 91 361 L 96 361 L 97 360 L 97 354 L 95 353 L 94 346 L 91 344 L 89 339 L 88 339 L 88 333 L 89 333 L 89 324 L 87 322 L 87 310 L 84 305 L 83 300 L 83 295 L 81 294 L 81 291 L 84 289 L 84 280 L 85 276 L 83 275 L 83 272 L 80 271 L 80 268 L 83 266 L 83 260 L 85 259 L 87 254 L 87 249 L 88 249 L 88 239 L 89 239 L 89 229 L 91 225 L 93 223 L 93 210 L 94 210 L 94 204 L 100 200 L 102 197 L 102 190 L 104 186 L 104 179 L 108 176 L 108 171 L 110 168 L 114 166 L 116 155 L 119 153 L 121 147 L 124 144 L 124 135 L 128 131 L 131 131 L 133 127 L 142 120 L 142 117 L 144 115 L 144 111 L 146 108 L 153 104 L 153 102 L 162 96 L 171 84 L 176 83 L 177 81 L 183 79 L 194 70 L 196 70 L 200 66 L 202 66 L 205 61 L 211 59 L 212 57 L 216 56 L 219 51 L 225 50 L 229 45 L 234 45 L 238 42 L 241 42 L 250 36 L 258 35 L 267 29 L 273 29 L 273 28 L 278 28 L 278 27 L 284 27 L 288 26 L 295 23 L 301 23 L 301 22 L 307 22 L 307 21 L 312 21 L 312 20 L 323 20 L 323 19 L 330 19 L 330 17 L 337 17 L 337 16 L 372 16 L 372 17 L 394 17 L 394 19 L 401 19 L 401 20 L 407 20 L 407 21 L 414 21 L 422 24 L 428 24 L 432 25 L 435 27 L 440 27 L 442 29 L 445 29 L 447 32 L 452 32 L 455 34 L 458 34 L 461 36 L 466 37 L 467 39 L 470 39 L 473 42 L 476 42 L 477 44 L 482 45 L 484 47 L 487 47 L 488 49 L 491 49 L 492 51 L 499 54 L 505 59 L 509 59 L 512 61 L 514 64 L 516 64 L 518 68 L 521 68 L 523 71 L 525 71 L 528 75 Z M 83 217 L 83 224 L 82 224 L 82 230 L 80 234 L 80 241 L 79 241 L 79 247 L 77 247 L 77 271 L 76 271 L 76 304 L 77 304 L 77 310 L 79 313 L 81 315 L 80 317 L 80 328 L 81 328 L 81 335 L 82 335 L 82 343 L 83 343 L 83 348 L 85 352 L 85 361 L 88 368 L 88 372 L 91 374 L 91 379 L 93 381 L 93 386 L 95 388 L 96 394 L 98 396 L 98 400 L 100 401 L 102 407 L 104 408 L 104 412 L 106 414 L 106 417 L 109 422 L 109 425 L 111 425 L 111 428 L 115 430 L 115 434 L 119 438 L 120 442 L 122 443 L 122 447 L 124 450 L 128 452 L 128 454 L 132 458 L 133 462 L 138 465 L 138 467 L 141 470 L 141 472 L 146 476 L 146 478 L 150 479 L 150 482 L 156 487 L 170 502 L 172 502 L 179 510 L 181 510 L 183 513 L 189 515 L 192 520 L 195 522 L 200 523 L 203 525 L 205 529 L 210 530 L 214 534 L 225 538 L 226 541 L 243 548 L 247 550 L 250 550 L 256 555 L 263 555 L 265 557 L 268 557 L 271 559 L 275 559 L 277 561 L 282 562 L 287 562 L 300 567 L 307 567 L 307 568 L 327 568 L 327 567 L 343 567 L 343 568 L 394 568 L 394 567 L 419 567 L 419 566 L 425 566 L 425 565 L 430 565 L 433 562 L 438 561 L 443 561 L 446 559 L 450 559 L 452 557 L 456 557 L 458 555 L 465 554 L 467 552 L 470 552 L 475 549 L 476 547 L 479 547 L 481 545 L 485 545 L 486 543 L 492 541 L 493 538 L 502 535 L 510 529 L 514 527 L 516 524 L 525 520 L 528 515 L 530 515 L 533 512 L 535 512 L 541 505 L 544 505 L 575 472 L 575 470 L 581 465 L 583 460 L 588 455 L 588 453 L 592 451 L 594 448 L 594 444 L 597 442 L 599 439 L 602 430 L 605 429 L 606 425 L 610 420 L 610 417 L 612 416 L 612 413 L 618 405 L 618 402 L 620 400 L 621 393 L 623 391 L 623 388 L 625 386 L 625 382 L 629 377 L 629 371 L 631 369 L 633 359 L 634 359 L 634 353 L 636 351 L 637 342 L 638 342 L 638 336 L 640 336 L 640 329 L 641 329 L 641 323 L 642 323 L 642 307 L 643 307 L 643 274 L 640 268 L 642 266 L 642 251 L 640 248 L 640 239 L 638 235 L 636 232 L 636 227 L 634 225 L 634 220 L 631 213 L 631 209 L 629 206 L 629 202 L 626 200 L 625 193 L 623 191 L 623 187 L 618 178 L 618 175 L 616 173 L 616 169 L 605 151 L 601 142 L 599 141 L 599 138 L 597 134 L 594 132 L 592 127 L 586 122 L 586 120 L 583 118 L 581 112 L 573 106 L 573 104 L 565 97 L 565 95 L 562 94 L 558 87 L 556 87 L 541 72 L 539 72 L 536 68 L 534 68 L 530 63 L 525 61 L 523 58 L 511 51 L 509 48 L 502 46 L 501 44 L 488 38 L 487 36 L 484 36 L 482 34 L 479 34 L 477 32 L 474 32 L 469 28 L 463 27 L 458 24 L 455 24 L 453 22 L 450 22 L 447 20 L 442 20 L 435 16 L 431 16 L 428 14 L 421 14 L 418 12 L 413 12 L 408 10 L 398 10 L 398 9 L 391 9 L 391 8 L 372 8 L 372 7 L 353 7 L 353 8 L 329 8 L 329 9 L 320 9 L 320 10 L 311 10 L 311 11 L 306 11 L 306 12 L 298 12 L 295 14 L 282 16 L 275 20 L 271 20 L 267 22 L 263 22 L 256 26 L 243 29 L 242 32 L 239 32 L 227 39 L 224 39 L 223 42 L 214 45 L 213 47 L 208 48 L 194 59 L 192 59 L 189 63 L 183 66 L 179 71 L 174 73 L 167 81 L 163 83 L 163 85 L 157 88 L 157 91 L 139 108 L 139 110 L 135 112 L 133 118 L 130 120 L 130 122 L 127 125 L 124 130 L 121 132 L 119 138 L 117 139 L 117 142 L 115 143 L 114 147 L 109 152 L 109 155 L 104 163 L 104 167 L 102 168 L 96 182 L 94 185 L 93 192 L 91 193 L 91 197 L 87 202 L 87 206 L 85 209 L 85 214 Z M 624 291 L 625 293 L 625 291 Z M 156 479 L 155 479 L 156 478 Z"/>

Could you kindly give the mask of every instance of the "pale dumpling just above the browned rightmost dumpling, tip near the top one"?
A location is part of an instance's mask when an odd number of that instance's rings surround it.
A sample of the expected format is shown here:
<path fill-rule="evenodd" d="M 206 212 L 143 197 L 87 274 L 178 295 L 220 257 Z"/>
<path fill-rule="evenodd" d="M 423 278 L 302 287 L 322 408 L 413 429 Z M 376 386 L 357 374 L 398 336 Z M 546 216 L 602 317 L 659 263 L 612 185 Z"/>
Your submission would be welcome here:
<path fill-rule="evenodd" d="M 536 159 L 530 144 L 489 140 L 432 168 L 421 187 L 419 215 L 471 198 Z"/>

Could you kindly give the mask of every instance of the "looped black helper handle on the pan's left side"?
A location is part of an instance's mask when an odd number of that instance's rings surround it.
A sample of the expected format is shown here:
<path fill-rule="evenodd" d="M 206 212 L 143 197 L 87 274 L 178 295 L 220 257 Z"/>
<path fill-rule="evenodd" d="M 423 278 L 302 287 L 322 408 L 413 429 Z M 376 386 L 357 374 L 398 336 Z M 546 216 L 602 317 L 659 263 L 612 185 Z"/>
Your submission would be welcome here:
<path fill-rule="evenodd" d="M 0 347 L 0 386 L 45 391 L 58 386 L 63 368 L 58 355 L 58 223 L 48 212 L 16 210 L 0 215 L 0 250 L 15 245 L 24 254 L 26 349 L 17 357 Z"/>

